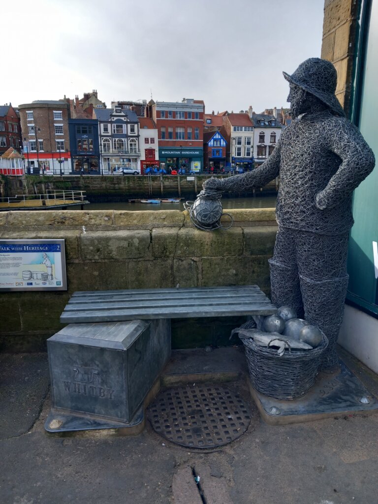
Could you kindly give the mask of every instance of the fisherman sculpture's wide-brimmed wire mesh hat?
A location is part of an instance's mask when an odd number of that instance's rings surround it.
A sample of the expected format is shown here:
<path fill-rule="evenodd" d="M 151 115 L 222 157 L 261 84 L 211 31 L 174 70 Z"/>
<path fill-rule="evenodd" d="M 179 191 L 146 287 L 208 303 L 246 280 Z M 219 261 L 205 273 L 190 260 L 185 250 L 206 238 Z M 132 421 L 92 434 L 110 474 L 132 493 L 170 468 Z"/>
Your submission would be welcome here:
<path fill-rule="evenodd" d="M 345 112 L 335 96 L 337 72 L 327 59 L 308 58 L 299 65 L 296 71 L 289 75 L 282 72 L 290 84 L 317 96 L 338 115 L 345 116 Z"/>

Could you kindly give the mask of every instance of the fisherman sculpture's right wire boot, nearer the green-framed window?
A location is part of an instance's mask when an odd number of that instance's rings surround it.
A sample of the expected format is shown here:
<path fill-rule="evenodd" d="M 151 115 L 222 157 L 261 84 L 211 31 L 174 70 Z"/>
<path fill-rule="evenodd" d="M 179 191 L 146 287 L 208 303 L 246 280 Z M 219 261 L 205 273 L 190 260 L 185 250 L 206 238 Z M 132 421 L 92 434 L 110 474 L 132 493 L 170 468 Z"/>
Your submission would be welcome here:
<path fill-rule="evenodd" d="M 329 280 L 300 278 L 304 305 L 304 319 L 319 327 L 328 338 L 328 347 L 322 354 L 320 369 L 331 370 L 338 363 L 336 341 L 343 321 L 348 276 Z"/>

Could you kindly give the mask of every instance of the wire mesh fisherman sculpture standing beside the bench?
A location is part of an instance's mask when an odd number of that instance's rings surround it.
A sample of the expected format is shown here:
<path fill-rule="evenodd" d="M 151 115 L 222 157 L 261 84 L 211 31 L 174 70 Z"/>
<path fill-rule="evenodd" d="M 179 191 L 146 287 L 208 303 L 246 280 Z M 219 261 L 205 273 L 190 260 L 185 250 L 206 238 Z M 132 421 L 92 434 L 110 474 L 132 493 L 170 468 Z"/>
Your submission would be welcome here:
<path fill-rule="evenodd" d="M 321 368 L 337 365 L 336 340 L 348 285 L 352 192 L 374 167 L 374 155 L 345 118 L 335 96 L 337 73 L 309 58 L 288 75 L 291 115 L 273 153 L 253 171 L 210 178 L 204 191 L 250 190 L 278 175 L 278 232 L 270 263 L 272 302 L 288 305 L 328 337 Z"/>

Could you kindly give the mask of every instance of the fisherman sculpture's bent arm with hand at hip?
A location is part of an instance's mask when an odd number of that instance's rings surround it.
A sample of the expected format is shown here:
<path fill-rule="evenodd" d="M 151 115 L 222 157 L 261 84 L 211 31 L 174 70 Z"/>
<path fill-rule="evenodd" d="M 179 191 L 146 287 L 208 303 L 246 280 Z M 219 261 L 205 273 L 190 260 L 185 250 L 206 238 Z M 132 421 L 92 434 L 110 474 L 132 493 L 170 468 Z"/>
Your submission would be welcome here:
<path fill-rule="evenodd" d="M 327 186 L 318 193 L 316 204 L 320 210 L 333 208 L 367 177 L 375 165 L 372 150 L 358 129 L 348 120 L 330 130 L 329 149 L 337 154 L 342 163 Z"/>

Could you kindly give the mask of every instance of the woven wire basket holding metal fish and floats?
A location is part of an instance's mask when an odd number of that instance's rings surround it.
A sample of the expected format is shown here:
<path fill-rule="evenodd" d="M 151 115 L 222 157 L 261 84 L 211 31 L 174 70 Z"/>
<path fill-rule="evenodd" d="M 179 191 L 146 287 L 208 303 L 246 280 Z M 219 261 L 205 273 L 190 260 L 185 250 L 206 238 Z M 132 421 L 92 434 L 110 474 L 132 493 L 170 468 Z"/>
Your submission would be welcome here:
<path fill-rule="evenodd" d="M 251 338 L 242 340 L 254 388 L 276 399 L 295 399 L 312 387 L 318 374 L 320 358 L 328 346 L 322 343 L 312 350 L 286 351 L 279 356 L 277 349 L 261 346 Z"/>

